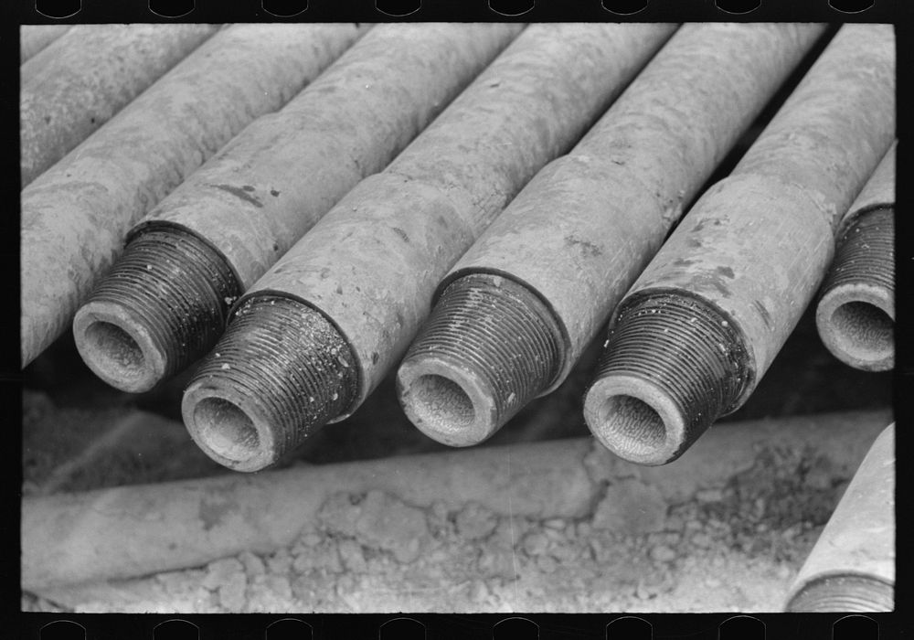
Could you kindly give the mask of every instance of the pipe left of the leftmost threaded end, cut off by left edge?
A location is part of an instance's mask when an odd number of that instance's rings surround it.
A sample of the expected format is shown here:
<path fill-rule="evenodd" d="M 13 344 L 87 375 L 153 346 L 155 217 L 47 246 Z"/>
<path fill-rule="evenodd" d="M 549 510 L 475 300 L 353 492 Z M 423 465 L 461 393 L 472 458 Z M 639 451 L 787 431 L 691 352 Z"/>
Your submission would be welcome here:
<path fill-rule="evenodd" d="M 63 332 L 131 229 L 365 31 L 238 25 L 197 48 L 22 192 L 22 365 Z M 112 331 L 112 339 L 120 339 Z M 124 349 L 125 360 L 135 356 Z"/>

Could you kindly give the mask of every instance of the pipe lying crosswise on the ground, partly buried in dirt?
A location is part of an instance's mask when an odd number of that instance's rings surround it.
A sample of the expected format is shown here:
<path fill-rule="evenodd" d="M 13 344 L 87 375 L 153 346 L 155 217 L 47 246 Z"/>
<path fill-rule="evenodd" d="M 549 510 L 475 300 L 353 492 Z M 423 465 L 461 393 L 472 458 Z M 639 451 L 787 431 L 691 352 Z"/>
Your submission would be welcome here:
<path fill-rule="evenodd" d="M 246 549 L 270 553 L 292 544 L 337 493 L 379 490 L 415 507 L 475 503 L 505 516 L 585 517 L 617 478 L 639 478 L 683 502 L 748 469 L 772 443 L 813 449 L 849 477 L 889 420 L 887 411 L 848 411 L 740 422 L 709 432 L 688 453 L 690 464 L 662 469 L 575 438 L 28 497 L 22 588 L 198 567 Z"/>

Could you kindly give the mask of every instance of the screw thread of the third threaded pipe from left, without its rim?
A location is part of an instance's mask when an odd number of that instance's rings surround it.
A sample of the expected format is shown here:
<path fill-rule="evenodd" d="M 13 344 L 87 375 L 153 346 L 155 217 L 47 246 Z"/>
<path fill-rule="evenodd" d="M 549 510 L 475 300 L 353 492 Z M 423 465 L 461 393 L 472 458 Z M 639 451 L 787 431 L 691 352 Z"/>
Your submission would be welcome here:
<path fill-rule="evenodd" d="M 561 345 L 558 325 L 537 294 L 500 275 L 471 273 L 441 293 L 404 364 L 434 357 L 480 380 L 491 394 L 491 435 L 552 384 Z"/>

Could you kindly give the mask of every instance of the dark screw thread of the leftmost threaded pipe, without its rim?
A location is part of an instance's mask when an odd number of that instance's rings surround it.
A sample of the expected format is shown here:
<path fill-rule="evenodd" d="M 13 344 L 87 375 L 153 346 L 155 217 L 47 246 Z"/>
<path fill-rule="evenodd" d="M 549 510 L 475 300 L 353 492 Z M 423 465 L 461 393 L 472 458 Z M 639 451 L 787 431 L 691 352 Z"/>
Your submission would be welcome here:
<path fill-rule="evenodd" d="M 163 356 L 165 378 L 206 354 L 240 294 L 217 251 L 191 233 L 168 227 L 135 236 L 87 304 L 129 310 Z"/>

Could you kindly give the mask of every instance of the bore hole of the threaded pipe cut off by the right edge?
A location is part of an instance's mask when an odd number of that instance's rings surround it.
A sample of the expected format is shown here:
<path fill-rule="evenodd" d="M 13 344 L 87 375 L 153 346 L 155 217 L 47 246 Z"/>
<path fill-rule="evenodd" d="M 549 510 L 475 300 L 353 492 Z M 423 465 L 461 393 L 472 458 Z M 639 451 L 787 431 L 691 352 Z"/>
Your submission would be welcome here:
<path fill-rule="evenodd" d="M 837 347 L 851 357 L 881 359 L 895 350 L 895 322 L 875 304 L 855 301 L 838 306 L 832 326 Z"/>

